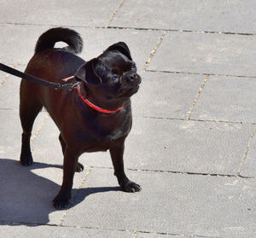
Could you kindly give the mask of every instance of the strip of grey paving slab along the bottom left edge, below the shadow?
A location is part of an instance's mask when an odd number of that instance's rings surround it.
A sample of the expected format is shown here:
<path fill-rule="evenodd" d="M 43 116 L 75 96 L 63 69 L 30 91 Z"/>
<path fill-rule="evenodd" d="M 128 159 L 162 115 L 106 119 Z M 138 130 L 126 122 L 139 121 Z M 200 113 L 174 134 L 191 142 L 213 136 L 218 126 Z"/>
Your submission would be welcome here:
<path fill-rule="evenodd" d="M 5 238 L 33 238 L 33 237 L 55 237 L 55 238 L 132 238 L 133 235 L 129 231 L 118 231 L 108 229 L 85 229 L 72 227 L 57 226 L 26 226 L 26 225 L 2 225 L 0 235 Z"/>

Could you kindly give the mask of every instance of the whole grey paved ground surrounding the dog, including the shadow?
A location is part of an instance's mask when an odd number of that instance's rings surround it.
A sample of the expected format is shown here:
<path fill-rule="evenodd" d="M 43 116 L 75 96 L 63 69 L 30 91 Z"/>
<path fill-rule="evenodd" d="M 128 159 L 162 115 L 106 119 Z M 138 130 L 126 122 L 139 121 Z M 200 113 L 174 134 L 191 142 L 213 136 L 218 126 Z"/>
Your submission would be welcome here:
<path fill-rule="evenodd" d="M 72 205 L 58 130 L 43 111 L 20 156 L 20 79 L 0 72 L 1 237 L 256 237 L 256 3 L 0 0 L 0 61 L 24 70 L 39 35 L 69 26 L 89 60 L 125 41 L 143 77 L 120 191 L 108 153 L 83 154 Z"/>

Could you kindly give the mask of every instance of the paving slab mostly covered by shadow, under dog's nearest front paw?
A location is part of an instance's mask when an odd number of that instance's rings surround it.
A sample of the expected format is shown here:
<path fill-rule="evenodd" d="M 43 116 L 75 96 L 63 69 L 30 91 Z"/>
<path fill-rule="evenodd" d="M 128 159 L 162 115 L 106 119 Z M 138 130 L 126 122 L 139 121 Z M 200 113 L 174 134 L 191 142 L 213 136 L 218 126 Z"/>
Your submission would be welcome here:
<path fill-rule="evenodd" d="M 16 160 L 0 160 L 0 221 L 18 223 L 61 223 L 64 211 L 56 211 L 52 200 L 61 189 L 62 167 L 45 163 L 21 166 Z M 73 197 L 87 168 L 73 181 Z"/>

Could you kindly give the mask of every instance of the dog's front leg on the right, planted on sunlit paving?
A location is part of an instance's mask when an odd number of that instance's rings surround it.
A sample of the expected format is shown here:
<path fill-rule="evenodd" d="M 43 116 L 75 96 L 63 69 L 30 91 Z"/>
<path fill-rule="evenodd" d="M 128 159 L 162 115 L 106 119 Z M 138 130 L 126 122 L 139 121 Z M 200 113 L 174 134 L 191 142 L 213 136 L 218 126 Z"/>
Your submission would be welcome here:
<path fill-rule="evenodd" d="M 126 177 L 125 175 L 123 160 L 125 151 L 125 141 L 114 144 L 113 147 L 109 149 L 109 151 L 113 163 L 114 175 L 117 177 L 120 187 L 125 192 L 134 193 L 140 191 L 140 185 L 131 182 L 129 178 Z"/>

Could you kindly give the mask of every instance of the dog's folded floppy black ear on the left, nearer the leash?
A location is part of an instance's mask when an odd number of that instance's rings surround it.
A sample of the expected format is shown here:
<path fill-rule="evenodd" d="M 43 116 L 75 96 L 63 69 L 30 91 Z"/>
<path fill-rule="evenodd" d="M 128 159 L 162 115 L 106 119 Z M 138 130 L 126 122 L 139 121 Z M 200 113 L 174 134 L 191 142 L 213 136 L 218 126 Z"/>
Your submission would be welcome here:
<path fill-rule="evenodd" d="M 102 84 L 102 78 L 100 78 L 95 70 L 97 59 L 94 58 L 79 67 L 77 72 L 74 74 L 74 78 L 78 81 L 84 81 L 86 84 L 98 85 Z"/>

